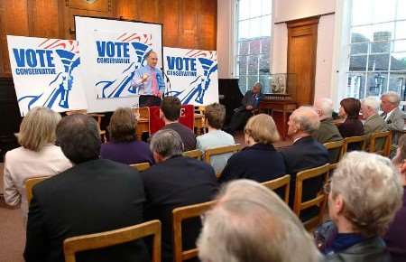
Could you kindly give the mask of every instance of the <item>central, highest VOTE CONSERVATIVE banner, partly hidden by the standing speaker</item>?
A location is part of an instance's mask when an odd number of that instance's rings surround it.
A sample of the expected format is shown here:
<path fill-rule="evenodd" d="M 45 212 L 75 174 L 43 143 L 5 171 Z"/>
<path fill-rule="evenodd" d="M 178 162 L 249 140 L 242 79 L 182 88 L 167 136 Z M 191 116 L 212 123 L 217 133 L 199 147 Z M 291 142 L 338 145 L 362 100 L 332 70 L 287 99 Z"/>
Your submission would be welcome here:
<path fill-rule="evenodd" d="M 161 24 L 82 16 L 75 16 L 75 23 L 88 111 L 137 105 L 137 90 L 131 82 L 135 70 L 146 64 L 148 51 L 157 52 L 157 67 L 161 68 Z"/>

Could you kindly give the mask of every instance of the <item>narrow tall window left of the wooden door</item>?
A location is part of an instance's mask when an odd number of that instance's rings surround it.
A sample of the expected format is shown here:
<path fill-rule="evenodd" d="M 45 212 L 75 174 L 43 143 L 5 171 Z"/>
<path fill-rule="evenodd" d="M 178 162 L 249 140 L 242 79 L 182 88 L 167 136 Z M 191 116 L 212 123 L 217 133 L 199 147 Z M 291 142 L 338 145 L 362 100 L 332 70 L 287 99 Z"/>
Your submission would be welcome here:
<path fill-rule="evenodd" d="M 255 82 L 269 92 L 272 0 L 237 0 L 236 76 L 245 94 Z"/>

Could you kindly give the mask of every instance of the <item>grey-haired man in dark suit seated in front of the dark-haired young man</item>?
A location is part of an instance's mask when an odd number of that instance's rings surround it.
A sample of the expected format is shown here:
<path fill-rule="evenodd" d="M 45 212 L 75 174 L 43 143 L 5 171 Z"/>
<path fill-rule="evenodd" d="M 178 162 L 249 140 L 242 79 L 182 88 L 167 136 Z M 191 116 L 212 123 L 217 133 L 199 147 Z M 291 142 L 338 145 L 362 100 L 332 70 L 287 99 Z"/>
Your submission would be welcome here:
<path fill-rule="evenodd" d="M 171 129 L 158 131 L 152 136 L 151 150 L 157 164 L 142 174 L 147 198 L 145 219 L 161 220 L 162 261 L 171 262 L 172 210 L 210 201 L 217 192 L 217 178 L 210 165 L 182 156 L 181 138 Z M 194 248 L 200 221 L 190 220 L 184 227 L 183 249 Z"/>

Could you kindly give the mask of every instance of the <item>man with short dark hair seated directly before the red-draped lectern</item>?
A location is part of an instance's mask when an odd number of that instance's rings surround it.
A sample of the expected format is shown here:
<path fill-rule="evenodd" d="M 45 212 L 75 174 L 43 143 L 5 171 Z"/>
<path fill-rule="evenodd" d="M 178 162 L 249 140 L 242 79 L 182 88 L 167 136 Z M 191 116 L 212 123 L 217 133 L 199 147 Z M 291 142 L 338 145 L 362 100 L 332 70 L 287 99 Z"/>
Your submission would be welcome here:
<path fill-rule="evenodd" d="M 165 122 L 162 129 L 176 131 L 182 139 L 184 150 L 189 151 L 196 149 L 196 136 L 188 126 L 179 123 L 181 107 L 179 98 L 165 97 L 162 99 L 160 117 Z"/>

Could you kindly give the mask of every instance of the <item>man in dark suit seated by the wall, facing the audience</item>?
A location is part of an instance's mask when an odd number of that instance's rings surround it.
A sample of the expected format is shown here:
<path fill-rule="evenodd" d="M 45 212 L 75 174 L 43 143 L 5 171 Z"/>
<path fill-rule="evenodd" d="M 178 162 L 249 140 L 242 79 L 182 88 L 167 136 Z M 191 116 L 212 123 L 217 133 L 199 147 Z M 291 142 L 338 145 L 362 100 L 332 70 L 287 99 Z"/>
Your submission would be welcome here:
<path fill-rule="evenodd" d="M 245 96 L 241 102 L 241 107 L 235 108 L 233 117 L 231 117 L 230 124 L 226 127 L 226 132 L 235 135 L 235 131 L 245 126 L 249 117 L 254 115 L 254 110 L 259 108 L 263 94 L 261 89 L 263 86 L 260 82 L 254 84 L 253 89 L 246 91 Z"/>

